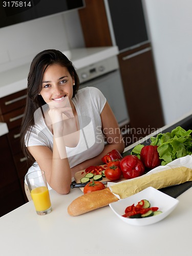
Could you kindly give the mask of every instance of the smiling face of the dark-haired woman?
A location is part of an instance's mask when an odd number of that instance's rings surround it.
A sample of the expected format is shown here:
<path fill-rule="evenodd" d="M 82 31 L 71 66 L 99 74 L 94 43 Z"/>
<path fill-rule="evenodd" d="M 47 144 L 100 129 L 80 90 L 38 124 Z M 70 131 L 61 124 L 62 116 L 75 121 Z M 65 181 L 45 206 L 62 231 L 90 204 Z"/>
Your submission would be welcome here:
<path fill-rule="evenodd" d="M 59 64 L 49 65 L 42 77 L 40 95 L 46 103 L 55 102 L 53 104 L 56 105 L 66 101 L 66 97 L 71 101 L 73 83 L 74 78 L 66 67 L 62 67 Z"/>

